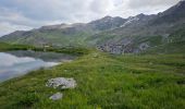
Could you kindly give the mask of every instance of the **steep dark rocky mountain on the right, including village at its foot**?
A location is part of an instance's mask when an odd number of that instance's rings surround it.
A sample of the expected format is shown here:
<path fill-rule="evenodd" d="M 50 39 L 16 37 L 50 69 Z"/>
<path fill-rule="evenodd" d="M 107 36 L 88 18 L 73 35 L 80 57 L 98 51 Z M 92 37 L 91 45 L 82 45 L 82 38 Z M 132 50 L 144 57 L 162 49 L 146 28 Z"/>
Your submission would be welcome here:
<path fill-rule="evenodd" d="M 183 0 L 156 15 L 139 14 L 128 17 L 120 28 L 95 35 L 88 40 L 95 40 L 98 49 L 112 53 L 141 52 L 168 45 L 174 37 L 178 37 L 175 41 L 184 41 L 184 10 Z"/>

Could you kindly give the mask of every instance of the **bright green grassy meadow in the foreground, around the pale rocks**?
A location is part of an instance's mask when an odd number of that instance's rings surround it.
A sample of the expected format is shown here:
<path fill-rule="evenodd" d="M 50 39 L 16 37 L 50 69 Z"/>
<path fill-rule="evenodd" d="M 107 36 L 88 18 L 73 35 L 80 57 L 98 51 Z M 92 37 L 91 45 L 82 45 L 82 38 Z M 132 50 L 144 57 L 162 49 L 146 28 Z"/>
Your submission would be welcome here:
<path fill-rule="evenodd" d="M 185 109 L 185 56 L 110 56 L 94 51 L 0 84 L 2 109 Z M 74 77 L 77 87 L 46 87 L 52 77 Z M 64 94 L 63 99 L 49 97 Z"/>

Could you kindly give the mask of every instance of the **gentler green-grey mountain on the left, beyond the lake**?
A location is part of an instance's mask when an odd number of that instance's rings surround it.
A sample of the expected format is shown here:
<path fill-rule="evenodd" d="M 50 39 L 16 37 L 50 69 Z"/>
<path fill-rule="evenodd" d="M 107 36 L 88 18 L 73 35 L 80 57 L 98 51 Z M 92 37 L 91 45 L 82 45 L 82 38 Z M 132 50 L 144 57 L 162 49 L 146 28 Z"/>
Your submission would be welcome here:
<path fill-rule="evenodd" d="M 59 24 L 42 26 L 38 29 L 17 31 L 0 38 L 11 44 L 35 46 L 83 46 L 85 38 L 119 27 L 125 22 L 122 17 L 106 16 L 90 23 Z"/>

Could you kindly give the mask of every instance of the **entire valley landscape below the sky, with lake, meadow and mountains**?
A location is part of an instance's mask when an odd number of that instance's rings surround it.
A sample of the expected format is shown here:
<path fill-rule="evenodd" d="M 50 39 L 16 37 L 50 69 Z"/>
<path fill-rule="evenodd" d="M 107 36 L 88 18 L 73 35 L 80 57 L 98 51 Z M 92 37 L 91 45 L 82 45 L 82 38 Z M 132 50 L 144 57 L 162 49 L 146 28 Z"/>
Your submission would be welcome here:
<path fill-rule="evenodd" d="M 4 35 L 0 82 L 0 109 L 185 109 L 185 0 Z"/>

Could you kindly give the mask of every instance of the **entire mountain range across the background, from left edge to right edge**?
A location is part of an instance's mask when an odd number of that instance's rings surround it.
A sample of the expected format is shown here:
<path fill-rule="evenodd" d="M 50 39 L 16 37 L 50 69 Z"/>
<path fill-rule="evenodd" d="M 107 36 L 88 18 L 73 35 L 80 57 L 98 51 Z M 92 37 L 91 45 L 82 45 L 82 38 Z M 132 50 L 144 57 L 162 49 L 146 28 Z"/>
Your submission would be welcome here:
<path fill-rule="evenodd" d="M 170 43 L 184 41 L 184 10 L 185 0 L 182 0 L 158 14 L 141 13 L 127 19 L 104 16 L 89 23 L 49 25 L 27 32 L 17 31 L 0 40 L 34 46 L 88 46 L 111 53 L 155 51 Z"/>

